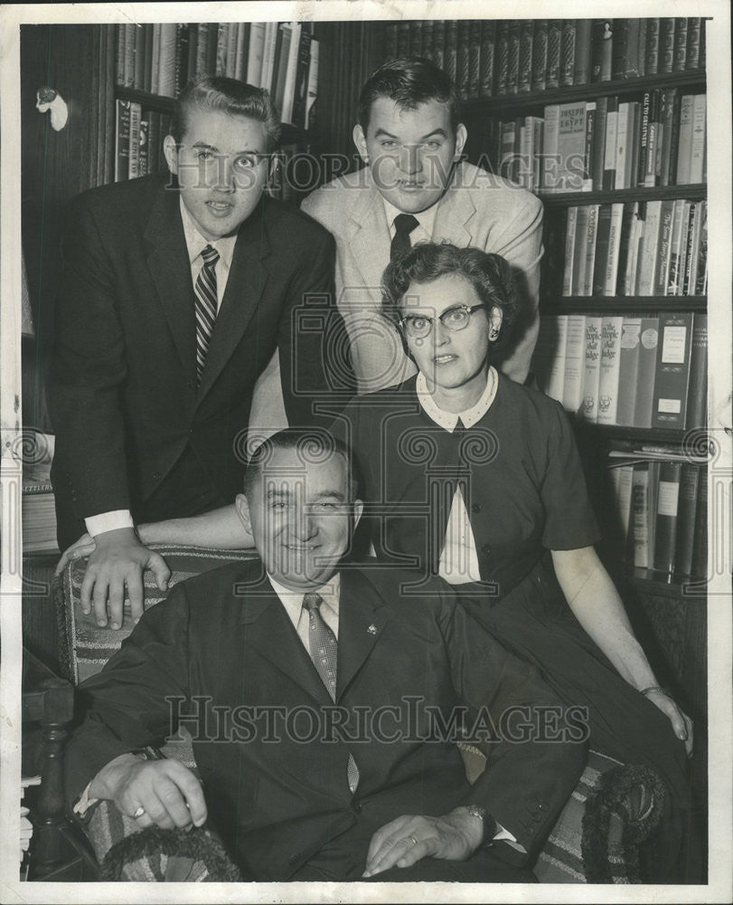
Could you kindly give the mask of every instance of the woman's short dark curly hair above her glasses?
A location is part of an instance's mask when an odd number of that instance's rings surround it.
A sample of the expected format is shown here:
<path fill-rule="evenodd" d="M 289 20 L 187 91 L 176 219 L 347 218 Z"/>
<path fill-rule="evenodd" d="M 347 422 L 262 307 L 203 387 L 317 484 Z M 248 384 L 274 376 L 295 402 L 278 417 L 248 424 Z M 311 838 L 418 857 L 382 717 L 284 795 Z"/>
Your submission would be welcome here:
<path fill-rule="evenodd" d="M 492 343 L 492 357 L 511 344 L 519 313 L 517 291 L 509 264 L 501 254 L 479 248 L 458 248 L 450 243 L 424 242 L 413 246 L 387 265 L 381 277 L 381 311 L 400 335 L 400 303 L 413 283 L 427 283 L 455 273 L 475 289 L 479 301 L 490 310 L 502 310 L 502 329 Z M 407 351 L 407 343 L 402 335 Z"/>

